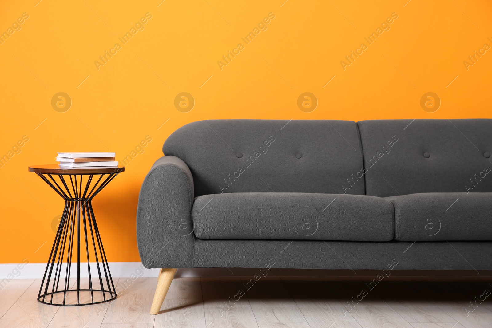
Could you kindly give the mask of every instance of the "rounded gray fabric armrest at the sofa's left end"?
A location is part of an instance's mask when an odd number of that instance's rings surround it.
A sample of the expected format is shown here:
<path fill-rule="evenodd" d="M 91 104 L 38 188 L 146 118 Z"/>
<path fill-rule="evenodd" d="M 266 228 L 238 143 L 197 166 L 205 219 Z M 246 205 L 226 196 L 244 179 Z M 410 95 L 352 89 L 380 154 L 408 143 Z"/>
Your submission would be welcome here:
<path fill-rule="evenodd" d="M 192 268 L 193 177 L 178 157 L 163 156 L 145 177 L 137 207 L 137 245 L 146 268 Z"/>

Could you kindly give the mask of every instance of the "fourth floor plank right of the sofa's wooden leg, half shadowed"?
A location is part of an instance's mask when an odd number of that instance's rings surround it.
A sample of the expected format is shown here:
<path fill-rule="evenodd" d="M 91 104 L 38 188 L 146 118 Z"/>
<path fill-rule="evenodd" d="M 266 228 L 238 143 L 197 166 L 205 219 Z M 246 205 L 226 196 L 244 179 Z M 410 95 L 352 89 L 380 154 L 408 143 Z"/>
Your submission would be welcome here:
<path fill-rule="evenodd" d="M 310 328 L 361 328 L 318 277 L 282 277 Z"/>

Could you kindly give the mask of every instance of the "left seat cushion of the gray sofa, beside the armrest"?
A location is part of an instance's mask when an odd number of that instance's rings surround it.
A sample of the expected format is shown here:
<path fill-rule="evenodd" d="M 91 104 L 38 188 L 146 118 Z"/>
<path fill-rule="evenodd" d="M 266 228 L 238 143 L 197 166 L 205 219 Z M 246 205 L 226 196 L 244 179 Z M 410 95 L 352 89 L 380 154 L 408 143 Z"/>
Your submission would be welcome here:
<path fill-rule="evenodd" d="M 393 206 L 380 197 L 311 193 L 223 193 L 193 204 L 199 239 L 388 241 Z"/>

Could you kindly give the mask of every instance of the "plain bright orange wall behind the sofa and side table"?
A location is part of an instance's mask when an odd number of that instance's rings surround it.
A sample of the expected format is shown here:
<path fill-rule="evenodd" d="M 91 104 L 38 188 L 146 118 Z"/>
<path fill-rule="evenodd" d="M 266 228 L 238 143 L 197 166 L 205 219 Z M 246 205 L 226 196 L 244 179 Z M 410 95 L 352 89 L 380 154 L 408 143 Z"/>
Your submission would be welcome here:
<path fill-rule="evenodd" d="M 115 151 L 121 160 L 152 138 L 93 204 L 109 261 L 139 261 L 141 181 L 188 122 L 492 117 L 492 51 L 463 63 L 492 46 L 490 1 L 37 1 L 0 4 L 0 32 L 12 32 L 0 45 L 0 155 L 12 155 L 0 168 L 0 263 L 47 260 L 63 202 L 27 167 L 55 163 L 58 151 Z M 113 57 L 94 63 L 105 51 Z M 228 51 L 239 54 L 217 63 Z M 352 63 L 351 51 L 360 54 Z M 70 97 L 68 111 L 52 107 L 58 92 Z M 180 92 L 193 96 L 191 111 L 175 108 Z M 298 108 L 303 92 L 317 98 L 314 111 Z M 441 100 L 433 113 L 420 105 L 427 92 Z"/>

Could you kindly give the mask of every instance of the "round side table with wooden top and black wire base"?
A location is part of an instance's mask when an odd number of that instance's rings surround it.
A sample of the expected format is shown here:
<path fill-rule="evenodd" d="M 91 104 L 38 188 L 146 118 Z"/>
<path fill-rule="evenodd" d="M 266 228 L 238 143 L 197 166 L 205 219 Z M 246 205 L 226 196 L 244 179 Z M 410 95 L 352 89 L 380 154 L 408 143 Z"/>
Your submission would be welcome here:
<path fill-rule="evenodd" d="M 116 289 L 109 272 L 91 201 L 123 171 L 124 166 L 65 168 L 51 164 L 29 167 L 29 172 L 36 173 L 65 201 L 41 281 L 37 297 L 39 302 L 73 306 L 98 304 L 116 299 Z M 75 269 L 72 268 L 75 260 L 76 275 L 72 272 L 72 269 Z"/>

